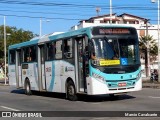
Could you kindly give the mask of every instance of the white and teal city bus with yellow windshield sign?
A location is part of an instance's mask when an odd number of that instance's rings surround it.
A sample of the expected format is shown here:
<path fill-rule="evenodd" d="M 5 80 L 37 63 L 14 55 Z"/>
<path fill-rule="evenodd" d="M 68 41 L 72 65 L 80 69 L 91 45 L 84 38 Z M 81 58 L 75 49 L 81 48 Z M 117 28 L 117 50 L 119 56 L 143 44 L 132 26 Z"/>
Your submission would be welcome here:
<path fill-rule="evenodd" d="M 137 31 L 92 26 L 9 46 L 9 84 L 32 91 L 111 95 L 142 89 Z"/>

